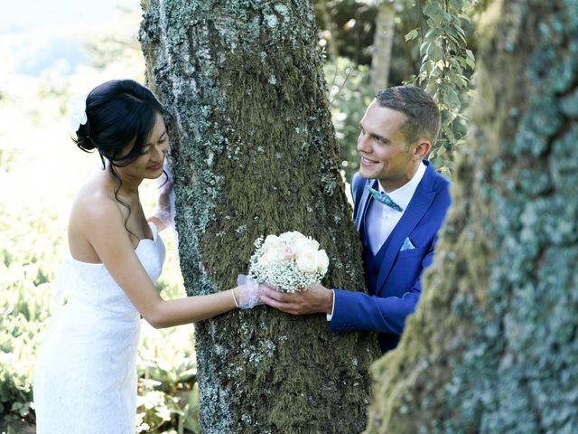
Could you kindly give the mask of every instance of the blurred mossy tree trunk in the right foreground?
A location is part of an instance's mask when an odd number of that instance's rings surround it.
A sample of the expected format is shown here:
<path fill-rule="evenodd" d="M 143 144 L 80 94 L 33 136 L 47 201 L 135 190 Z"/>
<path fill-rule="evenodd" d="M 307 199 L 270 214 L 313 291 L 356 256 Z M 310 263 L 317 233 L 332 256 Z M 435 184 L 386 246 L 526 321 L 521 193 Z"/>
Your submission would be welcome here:
<path fill-rule="evenodd" d="M 424 294 L 368 433 L 578 431 L 578 1 L 495 1 Z"/>

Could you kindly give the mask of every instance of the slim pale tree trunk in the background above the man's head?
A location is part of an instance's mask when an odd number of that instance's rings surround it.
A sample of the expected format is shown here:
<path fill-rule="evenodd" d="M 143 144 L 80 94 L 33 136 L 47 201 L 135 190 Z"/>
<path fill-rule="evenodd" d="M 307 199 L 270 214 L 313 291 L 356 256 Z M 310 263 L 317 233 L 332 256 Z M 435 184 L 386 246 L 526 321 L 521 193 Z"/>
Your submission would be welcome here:
<path fill-rule="evenodd" d="M 376 16 L 376 32 L 371 56 L 371 83 L 377 93 L 387 89 L 391 68 L 391 47 L 394 43 L 396 1 L 383 0 Z"/>

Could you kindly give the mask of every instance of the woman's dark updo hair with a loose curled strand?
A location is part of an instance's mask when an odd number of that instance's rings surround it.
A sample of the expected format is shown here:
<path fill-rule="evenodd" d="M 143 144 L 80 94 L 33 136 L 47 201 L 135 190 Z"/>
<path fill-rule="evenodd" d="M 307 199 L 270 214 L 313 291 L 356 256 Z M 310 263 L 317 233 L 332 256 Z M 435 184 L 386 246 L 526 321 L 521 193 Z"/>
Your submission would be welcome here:
<path fill-rule="evenodd" d="M 87 121 L 80 124 L 76 137 L 72 137 L 83 151 L 96 149 L 103 168 L 105 158 L 110 162 L 110 173 L 117 182 L 115 199 L 128 209 L 125 227 L 131 207 L 118 197 L 122 180 L 115 167 L 130 165 L 142 155 L 146 139 L 153 131 L 156 113 L 169 116 L 151 90 L 135 80 L 110 80 L 90 91 L 86 100 Z M 122 155 L 133 142 L 130 151 Z"/>

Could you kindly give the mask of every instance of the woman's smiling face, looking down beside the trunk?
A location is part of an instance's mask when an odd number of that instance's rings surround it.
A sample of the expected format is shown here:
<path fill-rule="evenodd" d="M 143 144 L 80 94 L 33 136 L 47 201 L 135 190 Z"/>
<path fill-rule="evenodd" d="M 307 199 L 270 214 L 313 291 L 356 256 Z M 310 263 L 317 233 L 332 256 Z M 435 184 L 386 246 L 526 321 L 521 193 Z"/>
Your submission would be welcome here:
<path fill-rule="evenodd" d="M 126 146 L 128 153 L 133 144 Z M 130 165 L 119 168 L 123 175 L 141 179 L 155 179 L 163 175 L 163 162 L 169 150 L 169 137 L 164 127 L 163 116 L 156 114 L 151 135 L 144 143 L 142 153 Z M 123 149 L 123 152 L 125 149 Z M 126 154 L 124 154 L 126 155 Z"/>

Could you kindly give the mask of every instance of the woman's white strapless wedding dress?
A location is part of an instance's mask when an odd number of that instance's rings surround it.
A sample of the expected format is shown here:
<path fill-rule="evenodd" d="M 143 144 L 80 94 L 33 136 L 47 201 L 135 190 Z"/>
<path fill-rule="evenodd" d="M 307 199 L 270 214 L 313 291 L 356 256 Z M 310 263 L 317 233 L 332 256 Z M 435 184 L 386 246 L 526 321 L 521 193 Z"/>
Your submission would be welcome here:
<path fill-rule="evenodd" d="M 150 226 L 154 240 L 135 252 L 154 281 L 164 245 Z M 34 373 L 37 434 L 134 434 L 138 312 L 102 264 L 66 259 L 56 288 L 69 298 L 51 319 Z"/>

